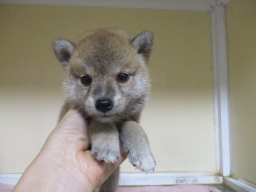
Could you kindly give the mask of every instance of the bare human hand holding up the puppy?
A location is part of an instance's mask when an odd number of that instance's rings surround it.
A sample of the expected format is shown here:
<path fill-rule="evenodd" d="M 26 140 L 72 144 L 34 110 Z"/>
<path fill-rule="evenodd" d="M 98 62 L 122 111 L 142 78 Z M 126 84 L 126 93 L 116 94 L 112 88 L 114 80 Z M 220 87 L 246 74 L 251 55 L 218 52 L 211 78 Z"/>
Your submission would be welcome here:
<path fill-rule="evenodd" d="M 88 150 L 87 124 L 75 110 L 69 110 L 28 166 L 14 192 L 94 191 L 126 159 L 115 164 L 92 158 Z"/>

